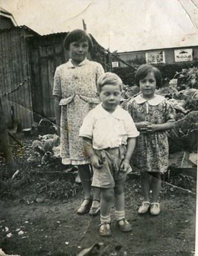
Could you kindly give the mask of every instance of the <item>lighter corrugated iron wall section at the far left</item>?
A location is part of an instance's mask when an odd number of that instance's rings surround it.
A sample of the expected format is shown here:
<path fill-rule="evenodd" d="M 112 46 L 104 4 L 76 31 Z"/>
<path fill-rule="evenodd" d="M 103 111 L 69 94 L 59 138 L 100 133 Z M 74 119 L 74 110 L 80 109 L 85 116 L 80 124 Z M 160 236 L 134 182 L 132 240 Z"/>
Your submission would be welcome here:
<path fill-rule="evenodd" d="M 32 126 L 32 97 L 25 29 L 4 30 L 0 34 L 0 95 L 8 126 Z"/>

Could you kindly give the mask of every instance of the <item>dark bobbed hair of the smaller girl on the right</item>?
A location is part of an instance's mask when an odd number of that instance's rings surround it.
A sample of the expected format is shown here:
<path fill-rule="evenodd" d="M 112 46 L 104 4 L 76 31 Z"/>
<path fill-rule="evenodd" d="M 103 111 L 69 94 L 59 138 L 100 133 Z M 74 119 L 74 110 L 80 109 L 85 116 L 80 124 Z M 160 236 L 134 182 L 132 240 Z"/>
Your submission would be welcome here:
<path fill-rule="evenodd" d="M 155 76 L 156 88 L 157 89 L 160 88 L 161 87 L 161 73 L 160 73 L 160 70 L 158 70 L 158 68 L 155 68 L 155 66 L 152 66 L 152 65 L 149 65 L 149 64 L 141 65 L 137 69 L 136 75 L 135 75 L 136 85 L 139 86 L 140 80 L 145 78 L 145 76 L 147 76 L 151 72 L 153 72 L 153 74 Z"/>

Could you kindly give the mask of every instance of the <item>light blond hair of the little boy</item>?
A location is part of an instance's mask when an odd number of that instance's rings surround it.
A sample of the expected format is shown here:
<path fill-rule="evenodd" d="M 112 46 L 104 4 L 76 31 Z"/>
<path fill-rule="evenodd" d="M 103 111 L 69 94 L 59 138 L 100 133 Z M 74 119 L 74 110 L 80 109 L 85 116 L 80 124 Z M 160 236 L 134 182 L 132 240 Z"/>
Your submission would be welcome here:
<path fill-rule="evenodd" d="M 118 75 L 111 72 L 106 72 L 105 74 L 101 75 L 97 80 L 97 89 L 98 93 L 101 92 L 101 88 L 104 85 L 119 85 L 120 90 L 123 89 L 123 81 L 119 78 Z"/>

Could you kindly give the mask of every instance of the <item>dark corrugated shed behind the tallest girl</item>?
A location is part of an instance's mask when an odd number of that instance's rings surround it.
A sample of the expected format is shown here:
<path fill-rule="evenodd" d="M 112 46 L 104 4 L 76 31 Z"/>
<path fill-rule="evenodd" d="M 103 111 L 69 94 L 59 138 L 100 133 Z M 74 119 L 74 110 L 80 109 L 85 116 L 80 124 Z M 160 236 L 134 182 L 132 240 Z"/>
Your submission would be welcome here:
<path fill-rule="evenodd" d="M 69 59 L 67 32 L 39 35 L 26 26 L 0 30 L 0 95 L 8 126 L 32 127 L 33 121 L 53 118 L 52 96 L 56 67 Z M 110 54 L 93 39 L 88 58 L 111 71 Z"/>

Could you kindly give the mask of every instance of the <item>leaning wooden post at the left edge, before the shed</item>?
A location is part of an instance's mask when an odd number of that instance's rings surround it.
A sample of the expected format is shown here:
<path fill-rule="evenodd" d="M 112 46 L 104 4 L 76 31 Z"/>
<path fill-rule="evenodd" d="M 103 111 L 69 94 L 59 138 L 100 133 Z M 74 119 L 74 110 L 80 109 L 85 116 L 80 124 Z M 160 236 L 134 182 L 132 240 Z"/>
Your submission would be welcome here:
<path fill-rule="evenodd" d="M 6 127 L 5 117 L 4 117 L 4 111 L 2 108 L 1 96 L 0 96 L 0 144 L 4 153 L 6 164 L 7 164 L 7 174 L 10 176 L 14 173 L 15 162 L 12 156 L 12 149 L 9 142 L 7 127 Z"/>

